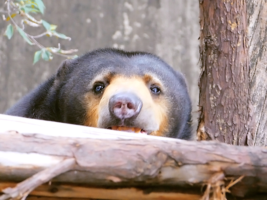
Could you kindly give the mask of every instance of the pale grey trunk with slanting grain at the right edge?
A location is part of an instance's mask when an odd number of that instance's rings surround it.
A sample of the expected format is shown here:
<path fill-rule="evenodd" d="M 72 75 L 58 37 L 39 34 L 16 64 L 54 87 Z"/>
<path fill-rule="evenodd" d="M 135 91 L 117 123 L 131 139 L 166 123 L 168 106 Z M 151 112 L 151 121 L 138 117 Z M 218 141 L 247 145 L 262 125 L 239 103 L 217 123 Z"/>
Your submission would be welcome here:
<path fill-rule="evenodd" d="M 248 0 L 250 99 L 255 111 L 253 145 L 267 145 L 267 2 Z"/>

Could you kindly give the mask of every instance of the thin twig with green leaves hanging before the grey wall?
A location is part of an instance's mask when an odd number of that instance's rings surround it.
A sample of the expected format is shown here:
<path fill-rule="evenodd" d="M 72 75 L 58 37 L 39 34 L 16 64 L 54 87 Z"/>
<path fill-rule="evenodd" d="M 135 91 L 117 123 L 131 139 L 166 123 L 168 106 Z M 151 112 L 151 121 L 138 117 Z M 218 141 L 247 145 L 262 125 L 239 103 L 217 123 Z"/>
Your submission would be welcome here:
<path fill-rule="evenodd" d="M 19 32 L 22 38 L 30 45 L 35 45 L 41 50 L 36 51 L 34 54 L 34 61 L 35 64 L 39 59 L 42 57 L 44 60 L 51 60 L 53 58 L 52 54 L 60 55 L 66 58 L 74 58 L 77 55 L 69 55 L 77 52 L 77 49 L 70 49 L 70 50 L 62 50 L 60 48 L 60 44 L 58 44 L 58 48 L 55 47 L 45 47 L 41 45 L 36 39 L 41 38 L 43 36 L 56 36 L 61 39 L 71 40 L 70 37 L 65 36 L 62 33 L 58 33 L 55 31 L 56 25 L 49 24 L 44 20 L 36 20 L 32 17 L 29 13 L 44 13 L 44 5 L 42 0 L 22 0 L 18 1 L 19 3 L 6 0 L 6 10 L 1 10 L 3 13 L 7 13 L 6 21 L 10 21 L 11 23 L 8 25 L 6 30 L 6 36 L 8 39 L 11 39 L 14 33 L 14 28 Z M 14 17 L 17 15 L 21 16 L 23 19 L 21 20 L 21 27 L 13 20 Z M 5 19 L 5 16 L 3 17 Z M 39 35 L 30 35 L 24 31 L 25 25 L 31 27 L 40 27 L 43 26 L 45 28 L 45 32 Z"/>

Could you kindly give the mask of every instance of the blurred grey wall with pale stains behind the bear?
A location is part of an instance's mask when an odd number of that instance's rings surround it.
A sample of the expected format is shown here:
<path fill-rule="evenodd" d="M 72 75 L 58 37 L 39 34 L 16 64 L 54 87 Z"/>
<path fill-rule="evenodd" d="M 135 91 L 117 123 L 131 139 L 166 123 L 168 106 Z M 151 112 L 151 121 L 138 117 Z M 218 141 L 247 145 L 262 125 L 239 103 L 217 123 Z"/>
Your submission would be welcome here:
<path fill-rule="evenodd" d="M 1 1 L 0 4 L 3 4 Z M 197 110 L 198 87 L 198 1 L 197 0 L 45 0 L 45 15 L 57 31 L 72 38 L 63 41 L 43 38 L 47 46 L 79 49 L 78 55 L 100 47 L 119 47 L 157 54 L 185 74 Z M 5 36 L 7 22 L 0 20 L 0 113 L 54 73 L 64 59 L 32 65 L 37 47 L 15 33 Z"/>

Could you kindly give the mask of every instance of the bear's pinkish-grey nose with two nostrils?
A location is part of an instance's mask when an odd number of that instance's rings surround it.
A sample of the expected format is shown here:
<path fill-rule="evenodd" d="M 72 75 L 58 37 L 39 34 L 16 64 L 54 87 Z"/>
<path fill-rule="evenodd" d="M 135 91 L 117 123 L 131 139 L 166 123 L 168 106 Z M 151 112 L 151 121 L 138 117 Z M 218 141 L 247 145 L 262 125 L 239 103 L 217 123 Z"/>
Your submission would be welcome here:
<path fill-rule="evenodd" d="M 109 112 L 121 120 L 137 117 L 142 106 L 141 99 L 130 92 L 120 92 L 111 96 L 108 104 Z"/>

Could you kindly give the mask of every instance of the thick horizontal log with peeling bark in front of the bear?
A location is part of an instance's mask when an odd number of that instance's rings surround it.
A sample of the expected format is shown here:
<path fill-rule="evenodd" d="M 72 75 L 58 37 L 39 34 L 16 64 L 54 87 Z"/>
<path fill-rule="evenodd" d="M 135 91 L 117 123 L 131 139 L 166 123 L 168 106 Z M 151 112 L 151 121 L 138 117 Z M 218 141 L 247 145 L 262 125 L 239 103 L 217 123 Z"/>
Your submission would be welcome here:
<path fill-rule="evenodd" d="M 6 115 L 0 115 L 0 124 L 2 183 L 22 181 L 75 158 L 70 171 L 51 181 L 135 187 L 142 192 L 149 187 L 160 187 L 157 191 L 174 187 L 177 195 L 201 195 L 201 186 L 214 179 L 226 186 L 230 179 L 244 175 L 230 188 L 233 195 L 267 191 L 267 150 L 263 147 L 183 141 Z"/>

